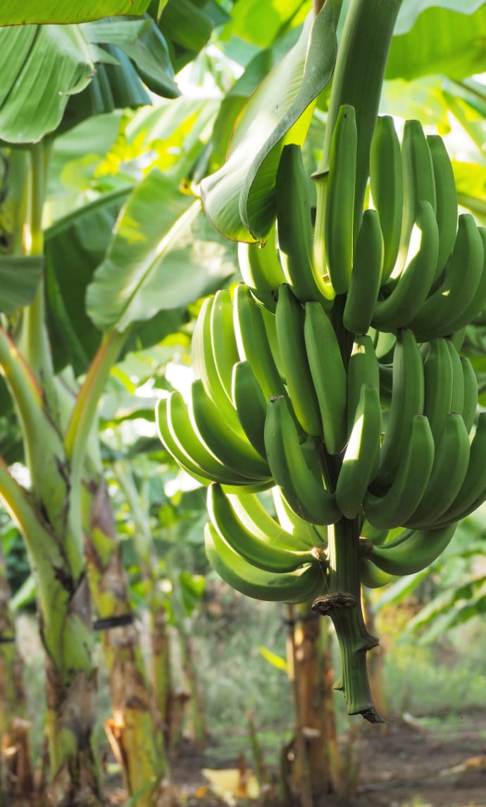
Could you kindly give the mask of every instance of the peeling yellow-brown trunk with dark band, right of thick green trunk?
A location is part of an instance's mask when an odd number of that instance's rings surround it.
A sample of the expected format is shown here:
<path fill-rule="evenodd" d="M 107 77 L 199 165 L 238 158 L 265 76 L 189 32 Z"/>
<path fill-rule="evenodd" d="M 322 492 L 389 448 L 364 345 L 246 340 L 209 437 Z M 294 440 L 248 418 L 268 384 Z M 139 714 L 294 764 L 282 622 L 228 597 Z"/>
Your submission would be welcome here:
<path fill-rule="evenodd" d="M 92 479 L 85 487 L 84 506 L 86 512 L 89 509 L 85 529 L 89 585 L 102 629 L 114 713 L 106 721 L 106 733 L 122 767 L 127 792 L 132 796 L 139 793 L 137 807 L 153 807 L 168 767 L 128 600 L 110 495 L 102 479 Z"/>

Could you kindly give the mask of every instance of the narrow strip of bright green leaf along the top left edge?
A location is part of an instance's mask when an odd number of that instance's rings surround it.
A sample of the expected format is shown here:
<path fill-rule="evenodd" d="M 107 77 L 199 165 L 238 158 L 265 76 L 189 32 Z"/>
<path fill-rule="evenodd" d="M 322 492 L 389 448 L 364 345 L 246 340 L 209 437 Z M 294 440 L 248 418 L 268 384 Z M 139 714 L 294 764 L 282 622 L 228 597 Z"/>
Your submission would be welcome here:
<path fill-rule="evenodd" d="M 10 0 L 0 6 L 0 25 L 83 23 L 112 15 L 139 15 L 150 0 Z"/>

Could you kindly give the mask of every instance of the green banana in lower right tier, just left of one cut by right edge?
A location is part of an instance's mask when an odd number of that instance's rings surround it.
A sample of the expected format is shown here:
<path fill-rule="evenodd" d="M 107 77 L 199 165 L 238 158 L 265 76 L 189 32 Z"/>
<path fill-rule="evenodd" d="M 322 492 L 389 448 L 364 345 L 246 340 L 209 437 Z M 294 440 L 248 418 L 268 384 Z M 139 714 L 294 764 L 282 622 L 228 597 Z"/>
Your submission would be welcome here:
<path fill-rule="evenodd" d="M 422 501 L 404 525 L 413 529 L 434 527 L 458 495 L 468 465 L 469 433 L 462 416 L 451 412 Z"/>

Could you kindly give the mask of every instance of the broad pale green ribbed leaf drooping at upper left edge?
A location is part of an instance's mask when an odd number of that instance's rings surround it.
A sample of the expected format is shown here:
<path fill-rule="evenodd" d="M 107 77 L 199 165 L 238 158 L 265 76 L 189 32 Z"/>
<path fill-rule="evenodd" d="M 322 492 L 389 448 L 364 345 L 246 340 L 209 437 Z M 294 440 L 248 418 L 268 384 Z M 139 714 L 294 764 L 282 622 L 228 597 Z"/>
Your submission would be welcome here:
<path fill-rule="evenodd" d="M 55 130 L 95 66 L 77 25 L 0 28 L 0 139 L 32 143 Z"/>

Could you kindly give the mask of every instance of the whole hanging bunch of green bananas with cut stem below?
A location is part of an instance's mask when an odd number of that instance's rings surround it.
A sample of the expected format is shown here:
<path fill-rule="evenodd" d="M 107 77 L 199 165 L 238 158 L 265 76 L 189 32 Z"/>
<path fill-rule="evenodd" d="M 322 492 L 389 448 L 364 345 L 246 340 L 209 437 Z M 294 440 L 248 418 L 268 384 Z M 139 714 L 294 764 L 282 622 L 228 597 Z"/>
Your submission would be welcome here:
<path fill-rule="evenodd" d="M 207 486 L 214 570 L 260 600 L 314 600 L 334 622 L 348 712 L 378 721 L 360 585 L 434 562 L 486 500 L 486 412 L 460 354 L 486 306 L 486 229 L 458 215 L 442 140 L 408 121 L 400 143 L 388 117 L 357 220 L 357 143 L 343 106 L 314 227 L 301 149 L 285 146 L 276 223 L 264 245 L 239 245 L 243 283 L 203 301 L 189 398 L 172 392 L 156 419 Z"/>

